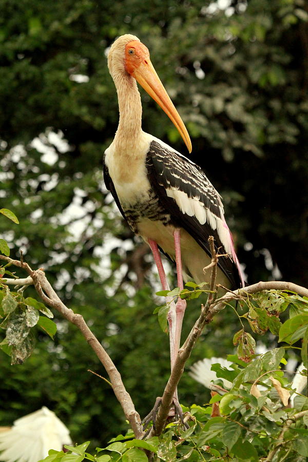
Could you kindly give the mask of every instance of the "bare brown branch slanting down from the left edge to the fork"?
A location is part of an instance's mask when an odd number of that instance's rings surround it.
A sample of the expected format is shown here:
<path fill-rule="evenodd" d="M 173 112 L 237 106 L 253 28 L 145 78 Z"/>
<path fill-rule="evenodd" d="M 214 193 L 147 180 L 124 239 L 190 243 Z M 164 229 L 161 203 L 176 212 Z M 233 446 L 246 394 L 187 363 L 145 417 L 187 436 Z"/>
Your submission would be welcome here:
<path fill-rule="evenodd" d="M 5 257 L 3 255 L 0 255 L 0 260 L 5 260 L 15 266 L 25 269 L 25 271 L 29 274 L 30 278 L 32 278 L 37 294 L 40 295 L 44 303 L 58 311 L 65 319 L 67 319 L 69 322 L 78 327 L 78 329 L 81 331 L 82 335 L 85 337 L 88 344 L 90 345 L 94 353 L 98 356 L 104 368 L 106 369 L 106 372 L 110 378 L 114 394 L 122 406 L 124 414 L 131 425 L 134 435 L 136 436 L 136 438 L 141 438 L 144 433 L 141 426 L 141 419 L 138 412 L 134 408 L 130 395 L 124 387 L 121 375 L 115 367 L 114 363 L 112 362 L 110 356 L 102 347 L 99 340 L 89 329 L 84 318 L 80 314 L 74 313 L 67 306 L 65 306 L 65 304 L 54 292 L 42 268 L 33 271 L 30 268 L 30 266 L 24 261 L 12 260 L 11 258 Z"/>

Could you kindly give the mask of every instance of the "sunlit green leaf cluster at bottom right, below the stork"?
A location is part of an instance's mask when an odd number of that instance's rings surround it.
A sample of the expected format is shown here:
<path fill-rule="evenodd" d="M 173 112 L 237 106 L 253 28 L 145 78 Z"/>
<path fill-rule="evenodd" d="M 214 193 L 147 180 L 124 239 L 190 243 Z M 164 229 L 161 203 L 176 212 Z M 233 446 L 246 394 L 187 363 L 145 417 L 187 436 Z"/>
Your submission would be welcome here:
<path fill-rule="evenodd" d="M 247 364 L 237 355 L 229 356 L 233 361 L 232 370 L 214 364 L 212 369 L 218 377 L 232 382 L 232 387 L 223 396 L 215 395 L 205 406 L 183 407 L 184 416 L 189 424 L 183 430 L 180 422 L 168 424 L 163 435 L 146 441 L 136 440 L 130 431 L 109 441 L 103 449 L 97 448 L 95 455 L 85 452 L 87 444 L 76 448 L 69 447 L 71 453 L 50 451 L 44 459 L 52 462 L 61 458 L 63 462 L 81 462 L 84 459 L 108 461 L 146 461 L 148 453 L 152 460 L 168 462 L 191 460 L 238 460 L 257 462 L 266 458 L 269 451 L 276 447 L 287 419 L 294 419 L 284 439 L 277 449 L 278 459 L 302 462 L 308 456 L 308 398 L 299 395 L 294 405 L 287 408 L 282 405 L 281 392 L 290 391 L 290 382 L 283 376 L 280 367 L 284 364 L 284 349 L 277 348 L 255 358 Z M 276 369 L 274 372 L 272 369 Z M 275 392 L 271 380 L 277 380 Z M 263 389 L 256 396 L 252 384 L 261 383 Z M 220 414 L 213 416 L 213 407 L 219 402 Z M 301 414 L 299 414 L 301 413 Z M 142 452 L 145 450 L 145 452 Z M 98 451 L 103 451 L 99 455 Z M 72 454 L 74 453 L 74 454 Z"/>

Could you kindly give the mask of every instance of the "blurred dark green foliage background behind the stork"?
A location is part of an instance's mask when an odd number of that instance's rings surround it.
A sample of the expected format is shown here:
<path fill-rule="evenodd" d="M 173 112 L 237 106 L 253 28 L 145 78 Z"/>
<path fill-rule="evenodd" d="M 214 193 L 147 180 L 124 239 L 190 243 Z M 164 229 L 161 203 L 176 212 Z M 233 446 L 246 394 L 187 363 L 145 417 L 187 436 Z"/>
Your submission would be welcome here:
<path fill-rule="evenodd" d="M 128 32 L 148 46 L 191 134 L 191 158 L 224 198 L 249 282 L 281 277 L 306 285 L 307 6 L 301 0 L 155 0 L 150 9 L 136 0 L 0 6 L 0 198 L 21 222 L 0 220 L 1 237 L 13 258 L 22 249 L 30 265 L 43 266 L 63 301 L 90 321 L 145 415 L 168 376 L 168 339 L 151 316 L 161 302 L 151 295 L 158 287 L 151 257 L 102 180 L 103 152 L 118 121 L 106 51 Z M 142 100 L 144 130 L 185 153 L 164 113 L 144 93 Z M 190 304 L 187 331 L 197 310 Z M 229 315 L 203 334 L 190 363 L 230 352 L 238 329 Z M 46 405 L 74 440 L 106 441 L 125 427 L 120 406 L 107 384 L 87 372 L 104 375 L 79 334 L 62 320 L 58 329 L 55 343 L 42 335 L 23 365 L 9 365 L 0 352 L 1 425 Z M 184 404 L 208 399 L 187 374 L 180 396 Z"/>

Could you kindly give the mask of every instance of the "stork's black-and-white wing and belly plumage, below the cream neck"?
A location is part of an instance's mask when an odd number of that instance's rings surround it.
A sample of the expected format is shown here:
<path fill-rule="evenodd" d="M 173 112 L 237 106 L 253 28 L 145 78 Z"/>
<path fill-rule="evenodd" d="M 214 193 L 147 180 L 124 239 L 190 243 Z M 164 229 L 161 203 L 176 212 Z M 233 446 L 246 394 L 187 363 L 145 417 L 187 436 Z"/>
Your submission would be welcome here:
<path fill-rule="evenodd" d="M 162 251 L 174 259 L 174 251 L 172 252 L 172 248 L 163 241 L 164 237 L 172 234 L 174 228 L 181 228 L 181 235 L 184 235 L 181 239 L 183 274 L 186 280 L 193 278 L 197 282 L 206 280 L 203 268 L 209 263 L 210 258 L 207 239 L 210 235 L 214 236 L 220 254 L 227 254 L 218 261 L 221 283 L 232 289 L 241 287 L 241 274 L 232 236 L 224 220 L 223 205 L 218 192 L 203 170 L 179 152 L 152 137 L 145 156 L 144 175 L 146 178 L 143 183 L 147 190 L 141 191 L 132 201 L 134 203 L 130 203 L 124 197 L 119 199 L 107 163 L 104 162 L 106 187 L 111 191 L 133 232 L 141 235 L 144 240 L 148 237 L 153 238 Z M 147 228 L 145 222 L 148 220 L 155 223 L 156 228 L 160 228 L 157 236 L 144 235 Z M 148 228 L 153 226 L 148 224 Z M 185 244 L 182 244 L 184 238 L 187 252 Z M 193 249 L 196 249 L 198 255 L 196 252 L 191 254 Z"/>

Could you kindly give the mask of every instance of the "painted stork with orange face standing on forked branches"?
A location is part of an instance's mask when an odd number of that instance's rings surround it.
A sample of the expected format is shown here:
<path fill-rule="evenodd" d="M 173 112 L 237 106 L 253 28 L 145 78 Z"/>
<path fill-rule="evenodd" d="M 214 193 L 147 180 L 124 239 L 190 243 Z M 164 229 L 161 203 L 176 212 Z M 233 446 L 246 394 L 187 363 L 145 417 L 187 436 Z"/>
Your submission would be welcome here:
<path fill-rule="evenodd" d="M 108 53 L 108 68 L 117 88 L 120 120 L 104 155 L 104 179 L 123 217 L 147 242 L 163 290 L 168 289 L 159 249 L 176 262 L 178 286 L 183 277 L 197 283 L 210 278 L 203 268 L 211 261 L 208 237 L 225 257 L 219 258 L 218 282 L 235 289 L 243 285 L 232 236 L 218 192 L 202 169 L 141 128 L 142 106 L 137 82 L 166 112 L 188 151 L 191 142 L 154 67 L 147 47 L 125 34 Z M 171 368 L 180 345 L 185 300 L 170 303 L 168 313 Z"/>

